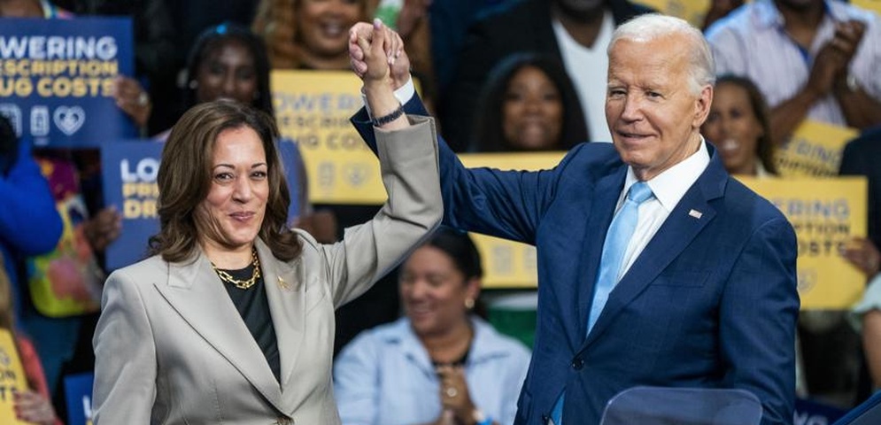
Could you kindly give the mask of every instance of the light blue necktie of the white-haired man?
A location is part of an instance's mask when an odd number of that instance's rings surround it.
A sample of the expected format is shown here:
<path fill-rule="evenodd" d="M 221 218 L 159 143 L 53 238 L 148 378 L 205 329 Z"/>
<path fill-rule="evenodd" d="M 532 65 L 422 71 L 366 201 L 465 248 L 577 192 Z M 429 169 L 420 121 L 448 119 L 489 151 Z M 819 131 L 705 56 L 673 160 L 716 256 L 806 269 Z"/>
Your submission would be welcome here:
<path fill-rule="evenodd" d="M 591 303 L 591 314 L 587 318 L 587 334 L 591 333 L 591 328 L 599 319 L 599 313 L 603 312 L 609 293 L 614 289 L 614 285 L 618 283 L 618 274 L 621 273 L 622 261 L 624 253 L 627 251 L 627 245 L 630 244 L 630 237 L 637 228 L 637 220 L 639 218 L 639 205 L 653 197 L 652 189 L 645 182 L 636 182 L 627 191 L 627 198 L 624 199 L 624 205 L 615 214 L 612 224 L 606 233 L 606 242 L 603 243 L 603 254 L 599 260 L 599 273 L 597 274 L 597 283 L 593 290 L 593 302 Z M 553 406 L 551 419 L 556 425 L 562 424 L 563 419 L 563 401 L 566 393 L 560 394 L 557 403 Z"/>

